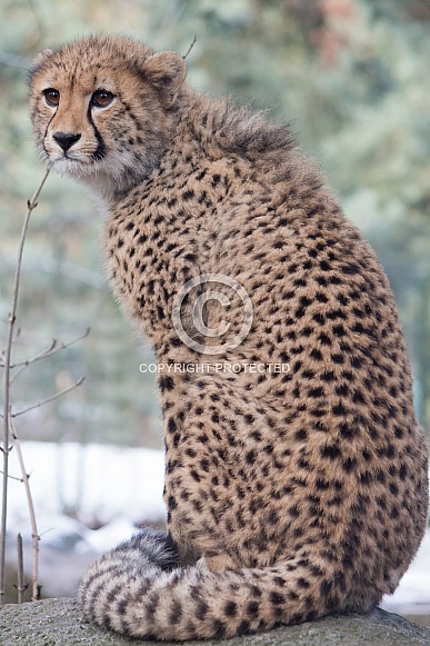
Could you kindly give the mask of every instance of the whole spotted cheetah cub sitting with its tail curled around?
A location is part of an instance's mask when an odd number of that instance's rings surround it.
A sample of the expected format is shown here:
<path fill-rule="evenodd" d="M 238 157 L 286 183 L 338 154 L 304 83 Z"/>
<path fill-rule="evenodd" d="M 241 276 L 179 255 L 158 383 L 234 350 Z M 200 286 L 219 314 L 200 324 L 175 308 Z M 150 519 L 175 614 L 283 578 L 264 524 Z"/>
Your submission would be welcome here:
<path fill-rule="evenodd" d="M 113 289 L 160 365 L 168 531 L 89 568 L 86 618 L 181 640 L 371 610 L 428 508 L 373 251 L 289 130 L 194 91 L 178 54 L 91 37 L 31 80 L 39 148 L 106 207 Z"/>

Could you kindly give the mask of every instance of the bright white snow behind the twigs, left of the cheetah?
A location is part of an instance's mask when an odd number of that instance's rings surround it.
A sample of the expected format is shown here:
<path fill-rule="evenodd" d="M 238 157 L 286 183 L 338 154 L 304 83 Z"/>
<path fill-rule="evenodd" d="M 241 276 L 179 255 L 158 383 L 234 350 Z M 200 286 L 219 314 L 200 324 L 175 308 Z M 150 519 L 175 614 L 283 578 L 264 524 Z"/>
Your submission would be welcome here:
<path fill-rule="evenodd" d="M 162 501 L 164 459 L 158 450 L 104 445 L 22 444 L 38 520 L 38 531 L 49 527 L 44 517 L 72 511 L 84 523 L 131 523 L 166 518 Z M 16 451 L 9 473 L 20 477 Z M 8 527 L 28 533 L 28 505 L 22 483 L 9 481 Z"/>

